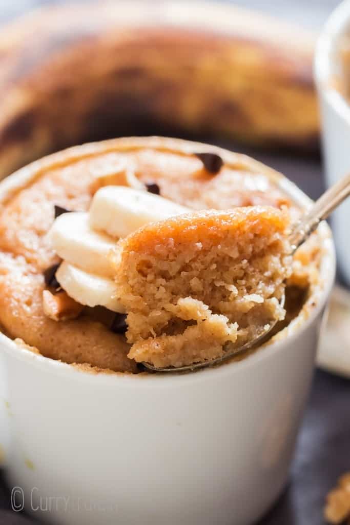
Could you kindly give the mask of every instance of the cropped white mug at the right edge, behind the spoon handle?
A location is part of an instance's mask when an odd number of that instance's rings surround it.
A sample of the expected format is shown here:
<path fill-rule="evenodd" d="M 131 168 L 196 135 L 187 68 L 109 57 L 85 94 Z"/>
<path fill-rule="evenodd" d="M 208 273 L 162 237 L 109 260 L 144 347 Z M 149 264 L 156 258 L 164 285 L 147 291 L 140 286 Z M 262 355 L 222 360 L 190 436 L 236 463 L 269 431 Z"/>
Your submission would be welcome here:
<path fill-rule="evenodd" d="M 350 30 L 350 1 L 338 6 L 328 19 L 316 47 L 315 79 L 319 92 L 323 128 L 323 152 L 328 186 L 350 172 L 350 106 L 335 88 L 334 75 L 340 73 L 338 45 Z M 338 263 L 350 285 L 350 201 L 332 215 Z"/>

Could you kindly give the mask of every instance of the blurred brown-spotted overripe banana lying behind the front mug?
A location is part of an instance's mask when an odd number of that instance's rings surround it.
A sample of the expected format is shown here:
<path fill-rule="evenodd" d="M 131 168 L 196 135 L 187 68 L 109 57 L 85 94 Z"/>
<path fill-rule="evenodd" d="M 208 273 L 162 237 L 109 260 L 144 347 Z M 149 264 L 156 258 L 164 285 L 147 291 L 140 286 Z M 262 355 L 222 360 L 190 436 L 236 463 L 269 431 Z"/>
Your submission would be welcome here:
<path fill-rule="evenodd" d="M 228 2 L 37 10 L 0 35 L 0 178 L 51 151 L 134 129 L 315 147 L 314 41 Z"/>

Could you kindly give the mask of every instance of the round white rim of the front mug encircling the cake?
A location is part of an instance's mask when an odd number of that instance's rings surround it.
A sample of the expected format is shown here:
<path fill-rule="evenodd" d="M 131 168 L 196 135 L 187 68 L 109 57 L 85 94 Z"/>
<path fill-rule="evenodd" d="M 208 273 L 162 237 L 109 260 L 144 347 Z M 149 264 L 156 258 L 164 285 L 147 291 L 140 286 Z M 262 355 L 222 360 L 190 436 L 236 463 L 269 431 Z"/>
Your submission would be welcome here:
<path fill-rule="evenodd" d="M 350 0 L 346 0 L 346 3 L 349 3 Z M 292 181 L 288 180 L 287 177 L 281 173 L 273 170 L 272 168 L 255 161 L 249 156 L 236 154 L 230 152 L 229 150 L 218 148 L 218 146 L 212 146 L 210 144 L 184 141 L 181 139 L 167 139 L 167 138 L 125 138 L 125 139 L 111 139 L 107 141 L 97 142 L 97 143 L 88 143 L 81 146 L 73 146 L 61 152 L 54 153 L 34 161 L 33 163 L 24 166 L 20 170 L 16 171 L 9 177 L 5 178 L 4 181 L 0 183 L 0 203 L 6 201 L 6 198 L 17 188 L 23 188 L 26 186 L 31 179 L 33 179 L 37 171 L 41 169 L 47 169 L 52 162 L 60 161 L 63 157 L 72 160 L 79 153 L 98 153 L 99 151 L 104 151 L 104 148 L 109 148 L 113 144 L 132 144 L 140 145 L 149 145 L 150 147 L 157 145 L 165 144 L 165 146 L 171 147 L 172 145 L 182 146 L 185 150 L 188 149 L 196 150 L 198 146 L 205 148 L 206 150 L 221 152 L 226 158 L 235 158 L 238 156 L 240 159 L 248 160 L 248 164 L 252 169 L 259 169 L 261 167 L 262 172 L 266 173 L 272 180 L 283 190 L 287 195 L 303 209 L 307 209 L 312 204 L 312 200 Z M 39 170 L 38 170 L 39 169 Z M 179 373 L 179 374 L 131 374 L 125 372 L 113 372 L 108 370 L 96 371 L 93 368 L 91 370 L 84 370 L 83 365 L 75 365 L 72 363 L 66 363 L 58 360 L 48 358 L 39 352 L 30 350 L 30 346 L 26 346 L 24 342 L 16 342 L 16 340 L 10 339 L 4 333 L 0 331 L 0 344 L 2 350 L 5 350 L 8 354 L 14 356 L 15 359 L 24 361 L 29 365 L 33 365 L 40 369 L 45 369 L 46 373 L 53 373 L 55 375 L 63 375 L 66 377 L 74 377 L 79 381 L 88 381 L 92 382 L 94 385 L 102 384 L 104 386 L 118 387 L 118 386 L 130 386 L 132 388 L 157 385 L 157 386 L 166 386 L 169 387 L 179 386 L 181 384 L 188 384 L 188 382 L 198 382 L 206 381 L 209 377 L 224 377 L 227 374 L 236 374 L 246 369 L 249 369 L 250 366 L 256 366 L 260 361 L 264 359 L 270 359 L 273 357 L 275 352 L 282 351 L 290 345 L 299 335 L 303 332 L 306 332 L 309 329 L 310 325 L 315 321 L 316 317 L 319 316 L 320 312 L 325 306 L 326 300 L 331 292 L 333 287 L 334 277 L 335 277 L 335 248 L 333 243 L 333 237 L 330 227 L 326 222 L 322 222 L 317 229 L 318 235 L 320 237 L 321 245 L 323 248 L 323 253 L 321 256 L 321 265 L 320 265 L 320 280 L 322 281 L 322 287 L 317 288 L 312 296 L 307 299 L 308 302 L 316 301 L 316 306 L 309 312 L 305 318 L 305 314 L 301 312 L 295 319 L 289 323 L 284 330 L 292 329 L 292 333 L 285 333 L 284 337 L 278 340 L 271 340 L 267 344 L 258 348 L 251 355 L 248 355 L 246 358 L 243 358 L 240 361 L 232 361 L 220 364 L 218 366 L 207 367 L 206 369 L 198 370 L 195 372 L 189 373 Z M 278 335 L 278 334 L 276 334 Z M 274 336 L 276 337 L 276 336 Z M 291 350 L 292 351 L 292 350 Z M 118 380 L 116 378 L 118 377 Z M 121 382 L 121 381 L 122 382 Z"/>

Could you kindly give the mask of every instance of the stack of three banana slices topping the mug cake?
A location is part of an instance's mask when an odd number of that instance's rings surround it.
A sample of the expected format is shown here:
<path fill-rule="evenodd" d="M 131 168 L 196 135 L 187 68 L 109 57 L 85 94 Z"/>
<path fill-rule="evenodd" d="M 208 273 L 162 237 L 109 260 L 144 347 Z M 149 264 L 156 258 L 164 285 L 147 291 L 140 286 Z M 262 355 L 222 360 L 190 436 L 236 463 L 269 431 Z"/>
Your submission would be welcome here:
<path fill-rule="evenodd" d="M 63 259 L 56 279 L 68 295 L 89 307 L 124 313 L 109 264 L 116 240 L 158 220 L 187 213 L 188 208 L 160 195 L 126 186 L 105 186 L 96 192 L 90 211 L 57 217 L 48 238 Z"/>

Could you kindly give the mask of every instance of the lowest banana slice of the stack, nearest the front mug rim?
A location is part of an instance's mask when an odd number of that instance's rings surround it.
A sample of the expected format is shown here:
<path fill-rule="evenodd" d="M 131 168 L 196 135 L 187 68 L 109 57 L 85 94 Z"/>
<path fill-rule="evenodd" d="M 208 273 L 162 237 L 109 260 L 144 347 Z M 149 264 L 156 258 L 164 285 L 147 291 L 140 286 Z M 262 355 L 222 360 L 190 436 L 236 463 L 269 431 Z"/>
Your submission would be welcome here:
<path fill-rule="evenodd" d="M 56 279 L 69 297 L 85 306 L 104 306 L 113 312 L 125 313 L 115 298 L 115 282 L 89 274 L 63 261 L 56 272 Z"/>

